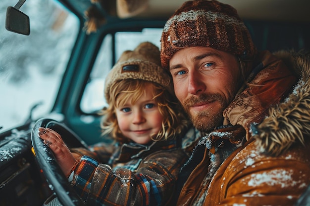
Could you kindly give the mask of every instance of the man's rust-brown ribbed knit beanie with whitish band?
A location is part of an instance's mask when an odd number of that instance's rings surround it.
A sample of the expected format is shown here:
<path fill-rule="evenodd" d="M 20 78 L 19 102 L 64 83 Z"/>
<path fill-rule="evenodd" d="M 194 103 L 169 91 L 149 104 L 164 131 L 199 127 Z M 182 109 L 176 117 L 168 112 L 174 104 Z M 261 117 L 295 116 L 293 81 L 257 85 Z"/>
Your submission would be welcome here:
<path fill-rule="evenodd" d="M 168 69 L 175 52 L 207 46 L 251 59 L 256 47 L 235 8 L 217 0 L 186 1 L 166 22 L 161 36 L 161 65 Z"/>

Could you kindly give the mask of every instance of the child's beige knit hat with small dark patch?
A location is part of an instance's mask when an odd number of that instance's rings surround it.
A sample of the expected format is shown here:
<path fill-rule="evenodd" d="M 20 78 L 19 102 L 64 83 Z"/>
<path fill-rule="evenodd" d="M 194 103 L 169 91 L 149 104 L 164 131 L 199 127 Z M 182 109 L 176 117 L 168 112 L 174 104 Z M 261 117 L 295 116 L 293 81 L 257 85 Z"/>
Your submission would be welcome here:
<path fill-rule="evenodd" d="M 125 79 L 140 79 L 155 82 L 173 94 L 170 75 L 160 65 L 159 48 L 151 42 L 140 43 L 133 51 L 122 53 L 117 63 L 105 78 L 104 95 L 107 103 L 114 82 Z"/>

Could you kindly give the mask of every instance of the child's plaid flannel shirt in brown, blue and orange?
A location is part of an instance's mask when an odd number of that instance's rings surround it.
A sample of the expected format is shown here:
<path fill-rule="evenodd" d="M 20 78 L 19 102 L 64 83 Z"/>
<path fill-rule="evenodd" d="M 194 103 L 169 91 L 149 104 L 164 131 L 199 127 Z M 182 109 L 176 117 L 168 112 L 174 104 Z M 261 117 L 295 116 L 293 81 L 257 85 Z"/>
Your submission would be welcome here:
<path fill-rule="evenodd" d="M 82 158 L 73 167 L 71 185 L 90 206 L 167 205 L 181 166 L 188 159 L 176 142 L 105 145 L 73 149 Z M 103 162 L 99 162 L 103 161 Z M 112 169 L 113 168 L 113 169 Z"/>

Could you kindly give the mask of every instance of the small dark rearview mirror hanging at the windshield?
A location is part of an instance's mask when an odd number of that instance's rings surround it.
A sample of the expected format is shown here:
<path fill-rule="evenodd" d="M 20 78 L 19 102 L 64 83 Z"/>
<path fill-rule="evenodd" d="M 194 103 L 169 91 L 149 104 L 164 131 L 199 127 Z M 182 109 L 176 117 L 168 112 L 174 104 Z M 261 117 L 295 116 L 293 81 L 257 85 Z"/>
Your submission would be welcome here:
<path fill-rule="evenodd" d="M 9 6 L 6 9 L 5 28 L 18 34 L 29 35 L 29 17 L 20 10 Z"/>

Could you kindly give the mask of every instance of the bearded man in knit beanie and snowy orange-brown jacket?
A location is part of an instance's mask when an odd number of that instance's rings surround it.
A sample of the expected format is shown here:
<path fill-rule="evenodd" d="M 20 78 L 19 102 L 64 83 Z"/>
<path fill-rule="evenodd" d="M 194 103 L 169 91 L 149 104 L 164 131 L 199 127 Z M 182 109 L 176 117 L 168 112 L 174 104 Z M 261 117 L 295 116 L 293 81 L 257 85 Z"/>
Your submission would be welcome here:
<path fill-rule="evenodd" d="M 196 0 L 167 21 L 161 63 L 204 133 L 176 205 L 296 204 L 310 185 L 309 56 L 258 52 L 234 8 Z"/>

